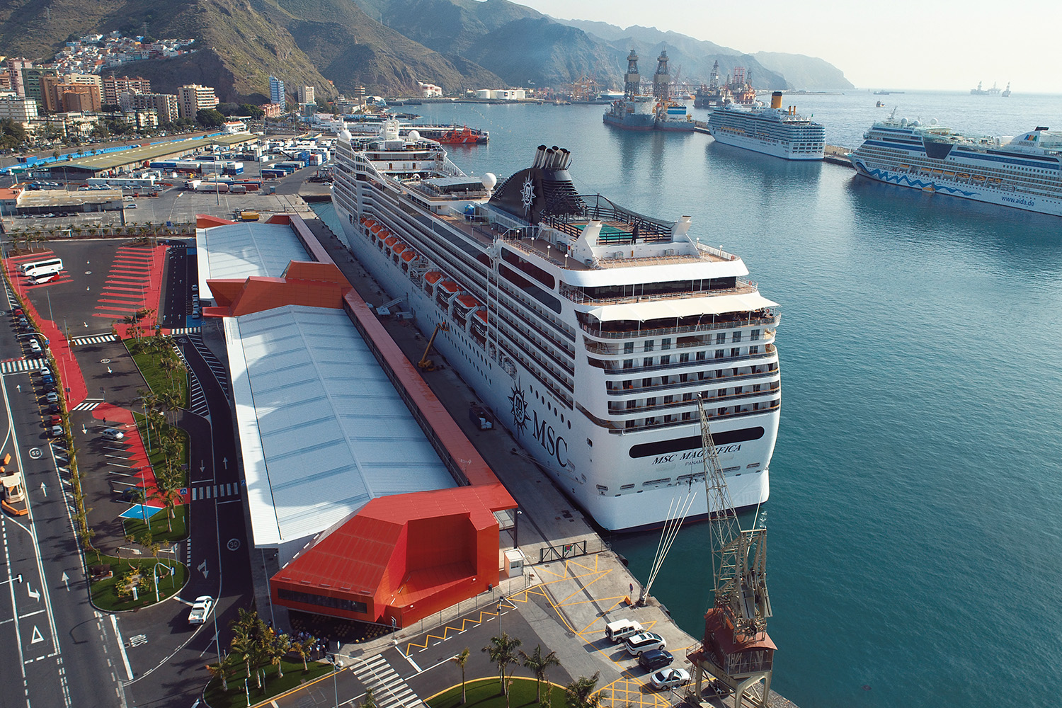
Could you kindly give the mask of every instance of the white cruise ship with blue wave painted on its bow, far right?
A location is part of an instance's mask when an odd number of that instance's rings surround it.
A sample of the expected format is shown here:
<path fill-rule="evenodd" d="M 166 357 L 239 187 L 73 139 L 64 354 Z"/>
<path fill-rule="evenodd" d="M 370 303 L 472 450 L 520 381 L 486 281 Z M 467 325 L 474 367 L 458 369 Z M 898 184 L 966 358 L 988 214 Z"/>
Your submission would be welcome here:
<path fill-rule="evenodd" d="M 878 182 L 1062 215 L 1062 131 L 1006 140 L 893 116 L 874 123 L 851 159 Z"/>

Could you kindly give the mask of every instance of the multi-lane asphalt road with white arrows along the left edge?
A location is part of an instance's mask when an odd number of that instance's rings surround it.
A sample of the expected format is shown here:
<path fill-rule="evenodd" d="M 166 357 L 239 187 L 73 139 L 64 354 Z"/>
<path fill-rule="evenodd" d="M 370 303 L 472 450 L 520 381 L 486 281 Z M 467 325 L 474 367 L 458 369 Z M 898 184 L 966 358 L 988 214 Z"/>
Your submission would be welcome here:
<path fill-rule="evenodd" d="M 2 300 L 0 352 L 20 359 Z M 124 661 L 109 618 L 88 600 L 88 583 L 73 535 L 68 480 L 61 478 L 41 420 L 44 391 L 37 374 L 3 376 L 5 430 L 0 452 L 23 471 L 30 514 L 0 516 L 0 661 L 5 690 L 0 706 L 115 706 L 123 696 Z M 62 462 L 62 461 L 59 461 Z M 22 582 L 13 581 L 21 574 Z M 17 667 L 17 669 L 16 669 Z"/>

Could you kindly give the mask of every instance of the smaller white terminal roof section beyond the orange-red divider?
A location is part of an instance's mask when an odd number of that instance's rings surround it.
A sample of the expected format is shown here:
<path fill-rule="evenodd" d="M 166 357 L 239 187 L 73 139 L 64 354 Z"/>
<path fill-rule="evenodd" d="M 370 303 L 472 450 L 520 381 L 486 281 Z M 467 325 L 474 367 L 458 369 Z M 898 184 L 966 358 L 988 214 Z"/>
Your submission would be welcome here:
<path fill-rule="evenodd" d="M 293 260 L 311 260 L 287 224 L 239 223 L 195 230 L 200 293 L 207 278 L 278 278 Z"/>

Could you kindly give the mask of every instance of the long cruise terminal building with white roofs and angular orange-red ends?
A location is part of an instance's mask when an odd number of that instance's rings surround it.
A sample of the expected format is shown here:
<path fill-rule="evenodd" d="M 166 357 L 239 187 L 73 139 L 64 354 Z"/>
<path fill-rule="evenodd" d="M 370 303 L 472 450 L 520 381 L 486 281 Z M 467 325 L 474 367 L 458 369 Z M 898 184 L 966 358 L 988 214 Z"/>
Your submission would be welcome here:
<path fill-rule="evenodd" d="M 516 502 L 297 215 L 200 217 L 276 605 L 404 626 L 497 585 Z"/>

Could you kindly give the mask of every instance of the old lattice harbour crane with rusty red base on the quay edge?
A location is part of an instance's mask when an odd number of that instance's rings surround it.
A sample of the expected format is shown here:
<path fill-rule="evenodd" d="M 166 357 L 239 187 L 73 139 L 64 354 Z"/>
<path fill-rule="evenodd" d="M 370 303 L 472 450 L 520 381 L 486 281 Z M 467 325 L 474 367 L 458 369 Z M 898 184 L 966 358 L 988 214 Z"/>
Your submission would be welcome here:
<path fill-rule="evenodd" d="M 735 708 L 767 708 L 775 650 L 767 636 L 767 618 L 771 617 L 767 528 L 757 514 L 751 529 L 741 529 L 700 400 L 698 410 L 708 508 L 718 512 L 709 521 L 715 601 L 704 616 L 701 646 L 688 655 L 693 664 L 696 695 L 704 695 L 702 691 L 707 687 L 703 684 L 708 679 L 717 694 L 734 694 Z M 760 681 L 763 689 L 758 687 Z"/>

